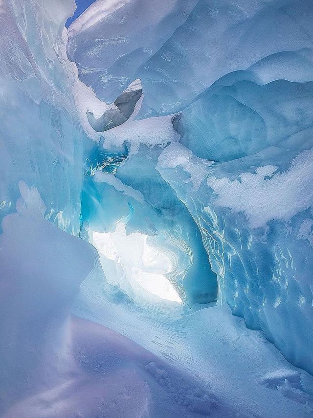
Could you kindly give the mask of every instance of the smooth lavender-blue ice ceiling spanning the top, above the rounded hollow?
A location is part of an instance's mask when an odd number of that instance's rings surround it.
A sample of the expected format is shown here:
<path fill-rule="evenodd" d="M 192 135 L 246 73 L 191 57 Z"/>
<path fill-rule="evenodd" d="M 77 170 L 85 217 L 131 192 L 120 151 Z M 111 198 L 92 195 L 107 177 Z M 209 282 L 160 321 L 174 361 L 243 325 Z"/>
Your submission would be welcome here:
<path fill-rule="evenodd" d="M 69 27 L 67 53 L 99 98 L 140 78 L 139 116 L 170 114 L 233 71 L 311 81 L 312 18 L 312 0 L 97 0 Z"/>

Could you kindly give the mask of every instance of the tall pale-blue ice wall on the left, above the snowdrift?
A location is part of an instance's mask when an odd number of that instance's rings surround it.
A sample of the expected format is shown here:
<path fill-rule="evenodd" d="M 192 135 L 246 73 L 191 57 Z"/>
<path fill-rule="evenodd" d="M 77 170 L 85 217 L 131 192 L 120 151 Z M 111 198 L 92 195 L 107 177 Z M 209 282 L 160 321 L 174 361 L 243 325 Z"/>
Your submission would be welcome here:
<path fill-rule="evenodd" d="M 78 235 L 84 134 L 62 35 L 74 9 L 74 1 L 1 2 L 0 219 L 24 180 L 38 188 L 46 218 Z"/>

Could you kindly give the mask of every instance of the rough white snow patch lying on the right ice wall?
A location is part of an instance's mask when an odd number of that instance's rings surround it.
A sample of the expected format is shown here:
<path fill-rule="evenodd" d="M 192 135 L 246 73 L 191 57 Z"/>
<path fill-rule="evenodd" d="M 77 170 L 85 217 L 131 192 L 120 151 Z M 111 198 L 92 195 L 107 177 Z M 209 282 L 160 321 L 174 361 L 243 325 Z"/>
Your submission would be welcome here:
<path fill-rule="evenodd" d="M 240 181 L 210 176 L 207 184 L 218 195 L 215 204 L 244 212 L 257 228 L 270 220 L 288 221 L 312 206 L 312 165 L 313 148 L 298 154 L 287 172 L 274 174 L 277 167 L 265 166 L 241 174 Z"/>

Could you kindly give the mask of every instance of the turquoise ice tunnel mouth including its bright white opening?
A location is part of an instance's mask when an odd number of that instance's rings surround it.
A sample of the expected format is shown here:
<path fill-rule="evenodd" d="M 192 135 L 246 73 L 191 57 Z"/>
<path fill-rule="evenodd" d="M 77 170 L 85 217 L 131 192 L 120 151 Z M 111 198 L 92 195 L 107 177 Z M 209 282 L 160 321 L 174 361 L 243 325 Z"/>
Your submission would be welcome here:
<path fill-rule="evenodd" d="M 133 103 L 134 95 L 129 98 Z M 140 122 L 133 126 L 140 135 Z M 155 168 L 169 143 L 139 144 L 137 152 L 123 139 L 108 145 L 108 135 L 120 135 L 119 129 L 104 132 L 86 159 L 80 236 L 98 250 L 107 282 L 128 297 L 215 305 L 217 277 L 198 225 Z"/>

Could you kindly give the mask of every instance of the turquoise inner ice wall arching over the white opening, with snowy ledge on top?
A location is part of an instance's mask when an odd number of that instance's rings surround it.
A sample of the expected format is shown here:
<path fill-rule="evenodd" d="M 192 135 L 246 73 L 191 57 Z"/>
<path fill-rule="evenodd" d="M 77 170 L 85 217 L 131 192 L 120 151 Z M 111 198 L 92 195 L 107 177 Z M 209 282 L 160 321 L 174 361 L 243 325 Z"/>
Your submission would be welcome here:
<path fill-rule="evenodd" d="M 87 161 L 82 234 L 92 242 L 90 231 L 113 233 L 123 222 L 127 234 L 145 234 L 156 252 L 167 254 L 170 268 L 164 268 L 163 273 L 184 302 L 190 306 L 214 302 L 217 278 L 197 224 L 155 169 L 164 147 L 178 140 L 172 118 L 133 118 L 104 132 L 94 157 Z M 117 263 L 115 275 L 120 269 Z M 130 289 L 128 295 L 136 299 L 138 292 Z"/>

